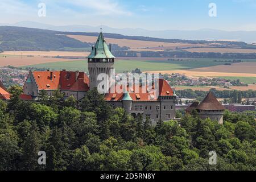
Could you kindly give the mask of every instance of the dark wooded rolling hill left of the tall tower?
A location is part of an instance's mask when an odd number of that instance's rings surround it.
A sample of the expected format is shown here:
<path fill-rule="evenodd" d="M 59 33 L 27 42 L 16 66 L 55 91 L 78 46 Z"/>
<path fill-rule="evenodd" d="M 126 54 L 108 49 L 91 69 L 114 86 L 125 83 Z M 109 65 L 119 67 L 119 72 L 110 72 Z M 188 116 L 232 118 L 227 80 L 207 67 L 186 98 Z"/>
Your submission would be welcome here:
<path fill-rule="evenodd" d="M 62 50 L 65 47 L 86 48 L 91 45 L 64 35 L 57 35 L 56 31 L 0 26 L 2 51 L 49 51 Z"/>

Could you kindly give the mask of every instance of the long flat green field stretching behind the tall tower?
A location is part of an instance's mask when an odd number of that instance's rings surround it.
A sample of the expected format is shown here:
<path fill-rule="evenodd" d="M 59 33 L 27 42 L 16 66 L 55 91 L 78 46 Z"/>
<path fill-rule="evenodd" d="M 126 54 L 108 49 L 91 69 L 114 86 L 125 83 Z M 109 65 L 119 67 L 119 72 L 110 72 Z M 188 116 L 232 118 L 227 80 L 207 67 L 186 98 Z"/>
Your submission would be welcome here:
<path fill-rule="evenodd" d="M 152 58 L 154 59 L 154 58 Z M 167 60 L 116 60 L 115 61 L 115 72 L 121 73 L 125 71 L 132 71 L 135 68 L 141 69 L 141 71 L 166 71 L 166 70 L 177 70 L 177 69 L 192 69 L 200 67 L 211 67 L 215 65 L 225 64 L 223 62 L 214 62 L 214 59 L 186 59 L 183 61 L 167 61 Z M 225 60 L 225 59 L 222 59 Z M 226 59 L 229 60 L 229 59 Z M 247 60 L 244 60 L 247 61 Z M 256 60 L 250 60 L 255 61 Z M 49 68 L 54 70 L 67 69 L 70 71 L 85 71 L 88 72 L 87 61 L 64 61 L 57 63 L 47 63 L 47 64 L 36 64 L 26 67 L 34 68 Z"/>

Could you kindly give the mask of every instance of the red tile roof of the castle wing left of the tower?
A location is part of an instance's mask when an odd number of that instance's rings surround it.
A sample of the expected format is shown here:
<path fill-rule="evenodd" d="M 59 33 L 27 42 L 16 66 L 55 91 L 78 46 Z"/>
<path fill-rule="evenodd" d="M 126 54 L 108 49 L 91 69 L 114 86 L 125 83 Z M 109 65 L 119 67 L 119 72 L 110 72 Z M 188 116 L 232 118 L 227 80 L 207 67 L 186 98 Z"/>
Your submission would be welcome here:
<path fill-rule="evenodd" d="M 84 72 L 40 71 L 33 72 L 39 90 L 88 91 L 89 77 Z"/>

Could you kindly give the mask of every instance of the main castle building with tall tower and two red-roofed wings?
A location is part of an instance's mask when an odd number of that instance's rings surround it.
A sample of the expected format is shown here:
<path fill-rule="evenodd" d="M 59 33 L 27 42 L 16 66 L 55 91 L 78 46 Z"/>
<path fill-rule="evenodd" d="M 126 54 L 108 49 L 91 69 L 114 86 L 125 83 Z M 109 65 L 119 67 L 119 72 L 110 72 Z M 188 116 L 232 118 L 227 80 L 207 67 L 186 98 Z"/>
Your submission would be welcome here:
<path fill-rule="evenodd" d="M 111 76 L 114 62 L 115 57 L 111 52 L 111 46 L 108 46 L 104 35 L 100 32 L 96 44 L 88 56 L 89 77 L 79 71 L 30 72 L 23 86 L 23 93 L 31 96 L 33 100 L 37 100 L 41 90 L 46 90 L 48 96 L 51 96 L 54 90 L 59 89 L 66 98 L 73 96 L 80 101 L 89 89 L 99 86 L 98 75 L 105 73 L 106 76 Z M 110 84 L 105 90 L 111 89 L 112 86 L 115 85 Z M 157 97 L 148 92 L 148 88 L 146 88 L 146 92 L 143 92 L 142 85 L 133 84 L 123 86 L 121 93 L 117 90 L 106 93 L 105 100 L 113 108 L 122 107 L 134 117 L 142 114 L 144 119 L 150 118 L 152 125 L 155 125 L 160 119 L 163 121 L 175 119 L 175 91 L 163 78 L 159 78 L 157 85 L 152 84 L 151 86 L 152 88 L 158 87 L 155 88 L 158 89 Z"/>

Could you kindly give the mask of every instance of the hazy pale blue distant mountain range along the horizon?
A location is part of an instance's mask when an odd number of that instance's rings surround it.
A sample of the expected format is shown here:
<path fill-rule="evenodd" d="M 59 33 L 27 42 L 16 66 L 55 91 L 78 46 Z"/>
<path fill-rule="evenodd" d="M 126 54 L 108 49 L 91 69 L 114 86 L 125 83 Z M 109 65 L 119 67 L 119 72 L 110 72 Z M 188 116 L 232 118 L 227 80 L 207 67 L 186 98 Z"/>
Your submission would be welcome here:
<path fill-rule="evenodd" d="M 18 22 L 14 24 L 1 24 L 6 26 L 19 26 L 29 28 L 40 28 L 55 31 L 68 32 L 99 32 L 100 26 L 92 27 L 86 25 L 53 26 L 38 22 Z M 256 43 L 256 31 L 222 31 L 213 29 L 200 30 L 163 30 L 150 31 L 143 28 L 112 28 L 102 26 L 103 31 L 112 34 L 129 36 L 150 36 L 164 39 L 187 39 L 187 40 L 232 40 L 246 43 Z"/>

